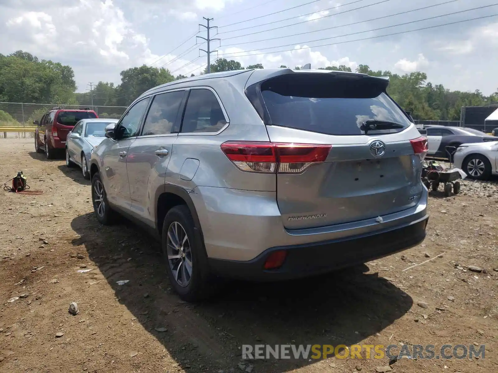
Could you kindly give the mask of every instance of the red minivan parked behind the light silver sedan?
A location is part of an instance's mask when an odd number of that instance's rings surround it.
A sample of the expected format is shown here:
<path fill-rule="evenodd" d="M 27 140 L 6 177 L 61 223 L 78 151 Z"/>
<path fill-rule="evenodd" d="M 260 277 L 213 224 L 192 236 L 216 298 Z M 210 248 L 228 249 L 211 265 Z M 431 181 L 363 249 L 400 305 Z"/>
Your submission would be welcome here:
<path fill-rule="evenodd" d="M 81 119 L 98 118 L 93 110 L 62 109 L 54 107 L 41 117 L 33 120 L 36 126 L 34 148 L 37 153 L 45 152 L 48 159 L 53 159 L 56 152 L 63 152 L 66 146 L 66 136 Z"/>

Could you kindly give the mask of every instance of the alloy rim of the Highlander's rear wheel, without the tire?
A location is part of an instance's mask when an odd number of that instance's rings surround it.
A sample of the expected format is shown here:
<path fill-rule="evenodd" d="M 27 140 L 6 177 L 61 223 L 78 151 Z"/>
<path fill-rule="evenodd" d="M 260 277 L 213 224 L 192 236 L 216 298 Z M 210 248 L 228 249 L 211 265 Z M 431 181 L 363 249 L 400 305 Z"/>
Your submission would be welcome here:
<path fill-rule="evenodd" d="M 177 221 L 168 228 L 166 251 L 174 279 L 180 286 L 188 286 L 192 279 L 192 251 L 187 233 Z"/>

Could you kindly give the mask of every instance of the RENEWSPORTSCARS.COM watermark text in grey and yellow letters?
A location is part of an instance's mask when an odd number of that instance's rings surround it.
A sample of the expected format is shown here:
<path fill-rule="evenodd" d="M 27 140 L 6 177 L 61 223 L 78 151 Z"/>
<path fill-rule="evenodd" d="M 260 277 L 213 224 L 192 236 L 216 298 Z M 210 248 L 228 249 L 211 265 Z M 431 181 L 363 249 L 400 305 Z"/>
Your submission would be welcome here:
<path fill-rule="evenodd" d="M 242 345 L 242 359 L 485 359 L 486 345 Z"/>

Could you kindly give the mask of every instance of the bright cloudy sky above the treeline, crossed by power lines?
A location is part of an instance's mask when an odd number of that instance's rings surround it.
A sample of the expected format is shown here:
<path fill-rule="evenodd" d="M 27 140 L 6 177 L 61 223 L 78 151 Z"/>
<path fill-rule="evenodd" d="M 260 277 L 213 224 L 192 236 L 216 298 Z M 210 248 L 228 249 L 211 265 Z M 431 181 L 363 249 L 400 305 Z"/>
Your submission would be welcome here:
<path fill-rule="evenodd" d="M 211 38 L 220 39 L 211 42 L 212 61 L 223 57 L 265 68 L 346 65 L 353 71 L 365 64 L 397 74 L 422 71 L 432 84 L 489 95 L 498 91 L 496 3 L 0 0 L 0 53 L 21 49 L 70 65 L 78 92 L 90 82 L 119 84 L 121 71 L 143 64 L 175 76 L 197 75 L 207 63 L 199 50 L 207 45 L 195 37 L 207 37 L 199 26 L 206 17 L 217 26 Z"/>

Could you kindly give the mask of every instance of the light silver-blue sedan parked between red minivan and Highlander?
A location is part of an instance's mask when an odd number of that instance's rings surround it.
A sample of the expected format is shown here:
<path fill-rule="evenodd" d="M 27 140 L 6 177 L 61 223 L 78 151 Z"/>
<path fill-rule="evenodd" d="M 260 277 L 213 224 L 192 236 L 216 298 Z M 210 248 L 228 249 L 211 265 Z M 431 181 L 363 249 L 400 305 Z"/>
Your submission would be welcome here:
<path fill-rule="evenodd" d="M 69 132 L 66 140 L 66 166 L 81 167 L 83 177 L 90 179 L 88 165 L 94 148 L 105 139 L 106 127 L 116 125 L 118 119 L 82 119 Z"/>

